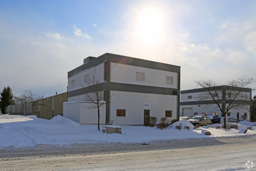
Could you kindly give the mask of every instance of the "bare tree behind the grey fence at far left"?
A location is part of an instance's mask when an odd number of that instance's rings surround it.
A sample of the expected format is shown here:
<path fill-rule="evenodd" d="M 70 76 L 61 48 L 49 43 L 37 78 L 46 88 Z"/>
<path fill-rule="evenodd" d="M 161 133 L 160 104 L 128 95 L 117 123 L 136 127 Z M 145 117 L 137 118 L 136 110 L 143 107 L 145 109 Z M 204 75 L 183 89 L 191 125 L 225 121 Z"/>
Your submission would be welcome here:
<path fill-rule="evenodd" d="M 42 99 L 43 96 L 40 96 L 39 93 L 35 94 L 31 89 L 24 90 L 24 94 L 14 95 L 13 99 L 16 104 L 23 102 L 31 102 L 32 101 L 32 109 L 34 110 L 34 106 L 38 105 L 39 100 Z M 34 112 L 34 111 L 33 111 Z"/>

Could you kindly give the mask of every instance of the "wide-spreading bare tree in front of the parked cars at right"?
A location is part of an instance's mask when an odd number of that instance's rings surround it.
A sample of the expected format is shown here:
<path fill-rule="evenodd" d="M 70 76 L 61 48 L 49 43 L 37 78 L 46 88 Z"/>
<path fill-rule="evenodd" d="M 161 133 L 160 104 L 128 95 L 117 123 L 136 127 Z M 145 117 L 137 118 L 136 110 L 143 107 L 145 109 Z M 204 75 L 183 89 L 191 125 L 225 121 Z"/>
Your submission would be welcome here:
<path fill-rule="evenodd" d="M 248 92 L 254 91 L 248 85 L 255 83 L 254 77 L 239 76 L 236 80 L 227 81 L 221 85 L 212 80 L 195 80 L 197 86 L 203 88 L 204 92 L 196 96 L 197 101 L 205 100 L 201 108 L 218 108 L 224 117 L 224 129 L 226 129 L 226 114 L 230 109 L 250 110 L 251 99 Z"/>

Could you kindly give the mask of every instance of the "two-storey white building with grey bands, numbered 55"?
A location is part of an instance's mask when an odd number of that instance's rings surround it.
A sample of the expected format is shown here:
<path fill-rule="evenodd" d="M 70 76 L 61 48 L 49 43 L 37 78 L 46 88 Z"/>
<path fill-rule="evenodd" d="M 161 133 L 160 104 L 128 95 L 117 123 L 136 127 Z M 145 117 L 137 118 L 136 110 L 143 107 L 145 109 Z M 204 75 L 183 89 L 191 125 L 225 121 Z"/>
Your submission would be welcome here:
<path fill-rule="evenodd" d="M 85 93 L 90 93 L 86 82 L 94 72 L 106 103 L 100 108 L 100 124 L 142 126 L 149 116 L 158 122 L 161 117 L 179 118 L 180 66 L 109 53 L 88 57 L 68 72 L 64 117 L 80 124 L 98 123 L 97 109 L 84 107 L 90 105 L 85 99 Z"/>

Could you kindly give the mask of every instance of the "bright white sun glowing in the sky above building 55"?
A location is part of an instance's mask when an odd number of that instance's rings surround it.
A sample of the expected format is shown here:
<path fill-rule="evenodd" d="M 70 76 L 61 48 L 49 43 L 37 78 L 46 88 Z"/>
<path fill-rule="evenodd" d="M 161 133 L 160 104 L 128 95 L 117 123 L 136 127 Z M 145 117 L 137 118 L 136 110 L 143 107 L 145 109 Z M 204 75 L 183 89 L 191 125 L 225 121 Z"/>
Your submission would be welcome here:
<path fill-rule="evenodd" d="M 144 43 L 153 43 L 160 39 L 163 28 L 163 15 L 161 12 L 148 8 L 138 16 L 138 37 Z"/>

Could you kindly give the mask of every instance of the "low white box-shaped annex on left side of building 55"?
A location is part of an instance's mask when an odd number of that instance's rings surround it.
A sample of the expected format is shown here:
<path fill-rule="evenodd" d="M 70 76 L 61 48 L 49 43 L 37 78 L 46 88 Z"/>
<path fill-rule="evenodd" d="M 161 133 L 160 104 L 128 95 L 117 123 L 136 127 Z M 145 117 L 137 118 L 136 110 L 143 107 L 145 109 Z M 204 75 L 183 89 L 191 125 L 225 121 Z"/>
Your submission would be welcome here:
<path fill-rule="evenodd" d="M 98 124 L 98 109 L 91 109 L 84 106 L 90 104 L 83 101 L 71 101 L 63 104 L 63 116 L 80 124 Z M 100 124 L 106 123 L 106 109 L 100 108 Z"/>

